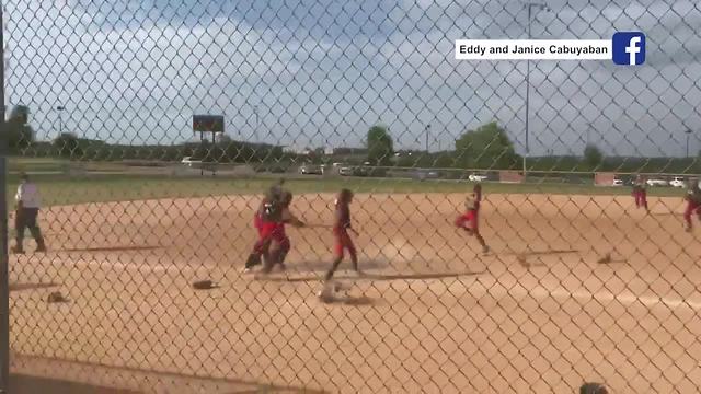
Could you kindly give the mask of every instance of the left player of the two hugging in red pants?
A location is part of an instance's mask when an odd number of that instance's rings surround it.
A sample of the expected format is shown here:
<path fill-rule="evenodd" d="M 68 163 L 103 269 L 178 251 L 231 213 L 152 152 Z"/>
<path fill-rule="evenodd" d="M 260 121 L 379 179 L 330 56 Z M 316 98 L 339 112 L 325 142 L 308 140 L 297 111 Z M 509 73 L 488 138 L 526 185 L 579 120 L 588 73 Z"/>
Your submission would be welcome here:
<path fill-rule="evenodd" d="M 268 189 L 254 215 L 253 224 L 258 232 L 258 240 L 245 262 L 244 273 L 261 264 L 261 257 L 263 260 L 269 259 L 268 252 L 274 239 L 283 241 L 279 231 L 276 231 L 281 221 L 281 184 L 283 182 L 278 182 Z"/>

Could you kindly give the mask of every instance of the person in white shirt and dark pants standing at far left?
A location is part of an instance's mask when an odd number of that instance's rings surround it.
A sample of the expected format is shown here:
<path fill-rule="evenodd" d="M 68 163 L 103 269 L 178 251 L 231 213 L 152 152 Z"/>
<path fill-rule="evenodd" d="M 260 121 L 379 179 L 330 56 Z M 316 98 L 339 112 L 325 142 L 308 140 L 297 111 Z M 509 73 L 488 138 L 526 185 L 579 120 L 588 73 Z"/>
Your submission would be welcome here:
<path fill-rule="evenodd" d="M 24 230 L 30 229 L 34 241 L 36 241 L 36 252 L 46 252 L 46 244 L 42 236 L 42 230 L 37 223 L 37 217 L 42 199 L 39 196 L 39 189 L 34 182 L 30 179 L 27 174 L 21 175 L 20 186 L 18 193 L 14 196 L 15 201 L 15 215 L 14 215 L 14 230 L 15 230 L 15 245 L 12 247 L 12 253 L 24 253 Z"/>

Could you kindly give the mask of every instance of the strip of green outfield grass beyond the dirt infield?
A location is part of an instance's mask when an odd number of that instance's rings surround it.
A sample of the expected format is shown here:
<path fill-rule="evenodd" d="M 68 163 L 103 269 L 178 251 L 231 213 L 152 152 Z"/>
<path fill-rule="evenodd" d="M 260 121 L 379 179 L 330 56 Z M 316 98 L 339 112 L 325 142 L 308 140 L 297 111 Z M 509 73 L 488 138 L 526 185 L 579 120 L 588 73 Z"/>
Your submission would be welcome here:
<path fill-rule="evenodd" d="M 139 175 L 35 175 L 45 206 L 139 200 L 157 198 L 206 197 L 258 194 L 273 184 L 274 177 L 226 178 L 211 176 L 164 177 Z M 16 176 L 10 176 L 9 201 L 16 189 Z M 290 178 L 287 187 L 296 194 L 331 193 L 348 187 L 356 193 L 466 193 L 468 182 L 445 182 L 381 178 Z M 550 194 L 550 195 L 628 195 L 630 187 L 600 187 L 561 183 L 498 184 L 484 183 L 485 194 Z M 682 196 L 681 189 L 651 188 L 651 196 Z"/>

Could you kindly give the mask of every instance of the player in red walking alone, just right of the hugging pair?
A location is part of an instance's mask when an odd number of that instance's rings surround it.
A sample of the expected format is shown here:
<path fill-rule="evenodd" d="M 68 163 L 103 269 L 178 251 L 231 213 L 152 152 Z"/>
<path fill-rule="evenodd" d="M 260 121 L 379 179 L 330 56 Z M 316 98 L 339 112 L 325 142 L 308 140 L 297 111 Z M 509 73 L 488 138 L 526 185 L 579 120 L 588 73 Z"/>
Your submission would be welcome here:
<path fill-rule="evenodd" d="M 331 269 L 329 269 L 324 277 L 324 288 L 319 291 L 318 294 L 322 298 L 330 296 L 331 279 L 343 260 L 345 251 L 348 251 L 348 255 L 350 255 L 353 269 L 361 274 L 358 269 L 358 254 L 350 239 L 350 234 L 348 234 L 348 231 L 353 231 L 357 235 L 357 232 L 350 227 L 350 202 L 353 202 L 353 192 L 346 188 L 342 189 L 336 198 L 336 213 L 333 223 L 333 235 L 335 239 L 334 260 Z"/>

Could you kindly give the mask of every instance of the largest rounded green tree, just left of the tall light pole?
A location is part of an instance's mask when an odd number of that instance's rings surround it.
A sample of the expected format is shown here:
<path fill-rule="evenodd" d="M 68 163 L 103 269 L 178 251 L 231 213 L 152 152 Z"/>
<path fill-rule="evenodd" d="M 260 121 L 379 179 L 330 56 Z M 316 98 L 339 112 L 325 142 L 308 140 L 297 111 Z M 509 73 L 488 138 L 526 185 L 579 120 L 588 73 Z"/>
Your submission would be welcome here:
<path fill-rule="evenodd" d="M 456 140 L 456 164 L 463 169 L 516 169 L 519 155 L 496 121 L 468 130 Z"/>

